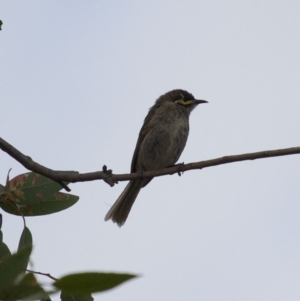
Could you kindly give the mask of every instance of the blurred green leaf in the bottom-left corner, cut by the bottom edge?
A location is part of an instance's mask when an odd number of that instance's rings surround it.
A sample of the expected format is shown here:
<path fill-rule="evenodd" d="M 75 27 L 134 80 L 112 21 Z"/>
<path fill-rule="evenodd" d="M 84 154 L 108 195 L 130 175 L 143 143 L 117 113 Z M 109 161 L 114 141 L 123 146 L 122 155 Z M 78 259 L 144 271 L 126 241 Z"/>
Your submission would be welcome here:
<path fill-rule="evenodd" d="M 48 294 L 39 285 L 35 276 L 28 273 L 17 285 L 0 292 L 1 300 L 49 300 Z"/>

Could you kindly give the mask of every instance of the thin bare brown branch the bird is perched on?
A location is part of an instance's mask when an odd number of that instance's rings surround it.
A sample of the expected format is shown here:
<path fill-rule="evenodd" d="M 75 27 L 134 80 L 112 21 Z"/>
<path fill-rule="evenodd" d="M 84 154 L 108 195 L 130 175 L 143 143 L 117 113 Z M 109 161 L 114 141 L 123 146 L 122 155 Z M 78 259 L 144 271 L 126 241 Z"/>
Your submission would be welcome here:
<path fill-rule="evenodd" d="M 48 177 L 53 181 L 59 183 L 62 183 L 63 181 L 76 183 L 76 182 L 104 180 L 110 186 L 114 186 L 114 184 L 118 183 L 119 181 L 136 180 L 140 177 L 139 173 L 115 175 L 112 173 L 111 170 L 107 170 L 105 165 L 103 166 L 103 171 L 95 171 L 95 172 L 81 173 L 81 174 L 74 173 L 74 172 L 68 173 L 66 171 L 56 171 L 33 161 L 30 157 L 22 154 L 20 151 L 18 151 L 16 148 L 14 148 L 12 145 L 10 145 L 2 138 L 0 138 L 0 148 L 4 152 L 9 154 L 11 157 L 13 157 L 16 161 L 21 163 L 27 169 L 34 171 L 38 174 L 41 174 L 45 177 Z M 241 154 L 241 155 L 225 156 L 225 157 L 220 157 L 220 158 L 211 159 L 207 161 L 194 162 L 189 164 L 178 164 L 160 170 L 145 171 L 143 173 L 143 177 L 149 178 L 149 177 L 159 177 L 164 175 L 172 175 L 174 173 L 180 174 L 181 172 L 192 170 L 192 169 L 203 169 L 207 167 L 239 162 L 239 161 L 264 159 L 264 158 L 288 156 L 288 155 L 295 155 L 295 154 L 300 154 L 300 147 L 291 147 L 291 148 L 268 150 L 268 151 L 261 151 L 261 152 Z"/>

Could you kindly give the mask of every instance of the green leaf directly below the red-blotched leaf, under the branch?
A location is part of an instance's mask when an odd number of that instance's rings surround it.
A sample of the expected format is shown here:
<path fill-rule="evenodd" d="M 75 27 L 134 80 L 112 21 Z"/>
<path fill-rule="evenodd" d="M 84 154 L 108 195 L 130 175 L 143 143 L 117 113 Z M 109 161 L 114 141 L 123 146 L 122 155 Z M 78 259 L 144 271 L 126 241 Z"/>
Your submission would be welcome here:
<path fill-rule="evenodd" d="M 79 197 L 63 192 L 56 192 L 47 199 L 39 201 L 35 204 L 20 206 L 9 202 L 0 202 L 0 207 L 14 215 L 38 216 L 56 213 L 65 210 L 77 203 Z M 20 213 L 21 212 L 21 213 Z"/>

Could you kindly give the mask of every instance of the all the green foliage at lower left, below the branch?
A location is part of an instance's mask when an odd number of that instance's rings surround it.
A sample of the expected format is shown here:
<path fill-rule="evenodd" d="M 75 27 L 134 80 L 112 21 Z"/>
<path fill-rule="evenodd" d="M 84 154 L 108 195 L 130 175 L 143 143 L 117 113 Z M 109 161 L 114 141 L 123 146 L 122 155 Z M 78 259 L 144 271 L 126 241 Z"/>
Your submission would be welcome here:
<path fill-rule="evenodd" d="M 67 185 L 68 183 L 65 183 Z M 16 253 L 11 254 L 3 242 L 0 230 L 0 300 L 51 300 L 49 295 L 61 291 L 62 301 L 91 301 L 91 293 L 111 289 L 130 280 L 135 275 L 117 273 L 79 273 L 56 279 L 52 278 L 50 289 L 38 283 L 33 271 L 27 270 L 33 247 L 30 230 L 25 216 L 39 216 L 56 213 L 73 206 L 78 196 L 59 192 L 62 186 L 37 173 L 25 173 L 0 184 L 0 207 L 7 213 L 22 216 L 24 229 Z M 0 214 L 0 229 L 2 215 Z"/>

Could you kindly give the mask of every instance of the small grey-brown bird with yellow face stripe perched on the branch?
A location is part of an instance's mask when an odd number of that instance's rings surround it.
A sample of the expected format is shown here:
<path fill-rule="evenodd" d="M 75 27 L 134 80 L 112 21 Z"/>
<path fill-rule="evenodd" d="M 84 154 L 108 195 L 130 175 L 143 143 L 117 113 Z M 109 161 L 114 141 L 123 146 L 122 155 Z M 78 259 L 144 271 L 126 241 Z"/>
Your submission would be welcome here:
<path fill-rule="evenodd" d="M 140 190 L 152 178 L 142 178 L 144 171 L 174 165 L 179 159 L 188 135 L 189 115 L 200 103 L 185 90 L 172 90 L 160 96 L 144 120 L 131 161 L 131 173 L 138 172 L 141 178 L 130 181 L 107 212 L 105 221 L 111 219 L 123 226 Z"/>

